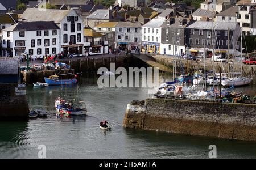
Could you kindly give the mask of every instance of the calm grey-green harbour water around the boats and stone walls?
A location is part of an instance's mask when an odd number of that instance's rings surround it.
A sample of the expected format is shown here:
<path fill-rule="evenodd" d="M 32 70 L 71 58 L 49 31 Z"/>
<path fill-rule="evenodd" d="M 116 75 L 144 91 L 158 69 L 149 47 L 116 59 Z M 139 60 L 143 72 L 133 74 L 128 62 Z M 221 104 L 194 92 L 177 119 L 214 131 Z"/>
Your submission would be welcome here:
<path fill-rule="evenodd" d="M 254 82 L 255 83 L 255 82 Z M 42 108 L 47 119 L 27 122 L 0 122 L 0 158 L 38 158 L 38 146 L 46 146 L 47 158 L 208 158 L 208 146 L 217 146 L 218 158 L 256 158 L 256 143 L 191 137 L 155 131 L 122 128 L 127 103 L 149 97 L 146 88 L 98 89 L 94 76 L 79 85 L 88 116 L 57 118 L 55 99 L 71 95 L 76 86 L 28 87 L 30 109 Z M 255 85 L 238 91 L 256 94 Z M 98 123 L 106 119 L 112 131 Z"/>

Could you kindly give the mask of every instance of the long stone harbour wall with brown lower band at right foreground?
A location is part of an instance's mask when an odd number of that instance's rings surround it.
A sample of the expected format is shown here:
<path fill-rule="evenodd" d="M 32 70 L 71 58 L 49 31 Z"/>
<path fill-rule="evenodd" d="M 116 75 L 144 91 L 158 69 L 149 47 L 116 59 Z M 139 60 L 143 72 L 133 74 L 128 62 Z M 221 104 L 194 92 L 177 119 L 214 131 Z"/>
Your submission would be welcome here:
<path fill-rule="evenodd" d="M 127 105 L 125 128 L 256 141 L 256 105 L 147 99 Z"/>

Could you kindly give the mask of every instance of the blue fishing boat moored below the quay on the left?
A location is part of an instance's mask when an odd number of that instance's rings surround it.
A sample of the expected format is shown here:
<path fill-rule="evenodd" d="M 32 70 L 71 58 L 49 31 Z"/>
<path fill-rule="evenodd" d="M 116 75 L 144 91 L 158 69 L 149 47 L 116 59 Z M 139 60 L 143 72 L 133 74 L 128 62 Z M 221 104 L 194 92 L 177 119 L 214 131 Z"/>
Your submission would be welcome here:
<path fill-rule="evenodd" d="M 52 85 L 68 85 L 68 84 L 76 84 L 77 83 L 76 78 L 60 79 L 59 75 L 52 75 L 49 78 L 44 78 L 44 80 L 50 86 L 52 86 Z"/>

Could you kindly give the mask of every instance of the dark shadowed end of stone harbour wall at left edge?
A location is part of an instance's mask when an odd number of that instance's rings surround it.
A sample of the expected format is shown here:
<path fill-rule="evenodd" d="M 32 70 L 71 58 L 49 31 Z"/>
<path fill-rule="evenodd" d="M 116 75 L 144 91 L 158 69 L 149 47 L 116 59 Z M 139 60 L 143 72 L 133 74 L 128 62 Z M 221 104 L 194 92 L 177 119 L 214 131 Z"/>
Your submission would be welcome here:
<path fill-rule="evenodd" d="M 15 94 L 18 84 L 0 84 L 0 120 L 27 119 L 29 108 L 27 96 Z"/>

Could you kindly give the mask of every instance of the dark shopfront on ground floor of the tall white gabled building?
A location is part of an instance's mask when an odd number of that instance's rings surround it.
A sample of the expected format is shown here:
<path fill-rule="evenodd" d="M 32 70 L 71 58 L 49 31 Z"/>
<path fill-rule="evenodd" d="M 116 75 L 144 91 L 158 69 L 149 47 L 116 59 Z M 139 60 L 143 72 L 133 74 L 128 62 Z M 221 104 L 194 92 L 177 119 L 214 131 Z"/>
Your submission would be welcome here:
<path fill-rule="evenodd" d="M 74 44 L 74 45 L 61 45 L 63 48 L 63 54 L 65 57 L 68 57 L 69 54 L 72 54 L 73 57 L 82 56 L 82 48 L 84 45 L 82 44 Z"/>

